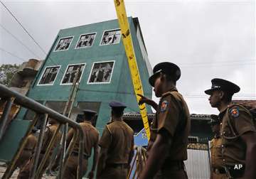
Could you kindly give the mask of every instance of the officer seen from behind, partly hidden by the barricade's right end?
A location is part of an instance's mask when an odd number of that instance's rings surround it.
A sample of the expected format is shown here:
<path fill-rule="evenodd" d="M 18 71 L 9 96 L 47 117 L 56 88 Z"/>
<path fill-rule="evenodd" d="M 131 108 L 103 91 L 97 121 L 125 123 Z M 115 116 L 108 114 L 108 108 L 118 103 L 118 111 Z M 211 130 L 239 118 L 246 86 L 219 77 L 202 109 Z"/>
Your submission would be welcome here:
<path fill-rule="evenodd" d="M 99 141 L 99 131 L 92 126 L 95 120 L 95 115 L 97 112 L 85 109 L 83 110 L 84 113 L 84 119 L 78 121 L 80 126 L 82 127 L 82 131 L 85 134 L 85 151 L 83 153 L 83 160 L 82 160 L 82 174 L 85 175 L 87 172 L 87 164 L 88 164 L 88 158 L 90 158 L 92 153 L 92 148 L 94 149 L 93 153 L 93 164 L 92 164 L 92 170 L 90 170 L 90 173 L 88 175 L 88 178 L 93 178 L 96 164 L 97 164 L 97 156 L 98 156 L 98 141 Z M 68 131 L 67 136 L 67 146 L 70 144 L 70 141 L 73 139 L 74 130 L 70 129 Z M 79 139 L 75 141 L 75 146 L 73 148 L 73 151 L 71 153 L 70 158 L 68 158 L 67 167 L 65 168 L 65 172 L 63 175 L 63 178 L 66 179 L 76 179 L 77 178 L 77 170 L 78 170 L 78 152 L 79 151 Z"/>

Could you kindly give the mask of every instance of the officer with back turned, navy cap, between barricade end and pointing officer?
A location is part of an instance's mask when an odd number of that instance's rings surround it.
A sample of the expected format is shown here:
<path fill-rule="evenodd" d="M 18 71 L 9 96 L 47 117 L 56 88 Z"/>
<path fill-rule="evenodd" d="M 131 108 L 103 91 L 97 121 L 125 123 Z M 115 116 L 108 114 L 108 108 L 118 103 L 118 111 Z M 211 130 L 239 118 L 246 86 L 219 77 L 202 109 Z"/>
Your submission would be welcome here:
<path fill-rule="evenodd" d="M 110 102 L 112 121 L 100 139 L 97 178 L 125 179 L 134 154 L 134 131 L 122 120 L 125 104 Z"/>

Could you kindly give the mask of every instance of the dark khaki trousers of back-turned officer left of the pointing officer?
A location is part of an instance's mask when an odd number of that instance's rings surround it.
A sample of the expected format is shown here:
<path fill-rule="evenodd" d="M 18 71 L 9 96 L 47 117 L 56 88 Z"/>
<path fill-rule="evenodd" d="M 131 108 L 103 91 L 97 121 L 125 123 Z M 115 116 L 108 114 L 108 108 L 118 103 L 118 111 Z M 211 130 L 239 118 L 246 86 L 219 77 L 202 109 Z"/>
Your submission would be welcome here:
<path fill-rule="evenodd" d="M 124 168 L 124 166 L 117 167 L 106 167 L 100 173 L 100 176 L 97 179 L 126 179 L 128 175 L 128 168 Z"/>

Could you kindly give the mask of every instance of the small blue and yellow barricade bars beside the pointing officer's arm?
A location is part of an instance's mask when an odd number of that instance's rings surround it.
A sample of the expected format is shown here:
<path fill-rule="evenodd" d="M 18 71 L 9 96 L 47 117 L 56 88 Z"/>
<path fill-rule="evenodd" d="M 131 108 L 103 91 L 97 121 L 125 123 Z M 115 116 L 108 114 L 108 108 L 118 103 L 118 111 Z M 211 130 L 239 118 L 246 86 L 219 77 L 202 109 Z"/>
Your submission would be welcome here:
<path fill-rule="evenodd" d="M 131 167 L 127 175 L 129 178 L 138 178 L 139 173 L 143 170 L 146 165 L 146 149 L 141 146 L 134 146 L 135 156 L 132 159 Z"/>

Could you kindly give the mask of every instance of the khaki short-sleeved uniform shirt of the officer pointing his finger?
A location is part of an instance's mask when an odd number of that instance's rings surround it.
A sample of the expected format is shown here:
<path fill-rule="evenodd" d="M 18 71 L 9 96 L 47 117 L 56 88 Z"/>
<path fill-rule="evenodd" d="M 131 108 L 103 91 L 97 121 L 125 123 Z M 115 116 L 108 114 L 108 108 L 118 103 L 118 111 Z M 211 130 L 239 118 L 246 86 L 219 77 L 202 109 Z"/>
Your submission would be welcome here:
<path fill-rule="evenodd" d="M 171 89 L 162 95 L 156 118 L 152 121 L 150 148 L 156 140 L 156 135 L 162 129 L 169 132 L 172 143 L 166 161 L 185 161 L 187 159 L 188 134 L 190 131 L 189 111 L 186 102 L 177 89 Z M 166 162 L 165 161 L 165 162 Z"/>

